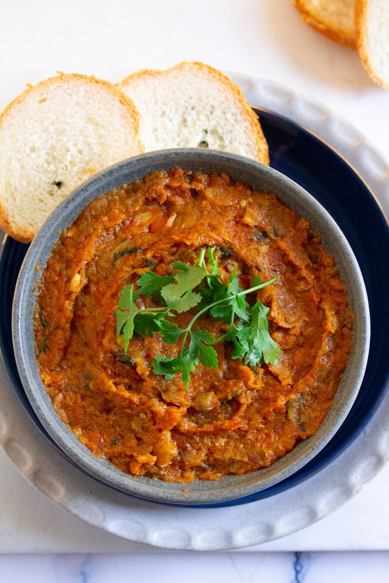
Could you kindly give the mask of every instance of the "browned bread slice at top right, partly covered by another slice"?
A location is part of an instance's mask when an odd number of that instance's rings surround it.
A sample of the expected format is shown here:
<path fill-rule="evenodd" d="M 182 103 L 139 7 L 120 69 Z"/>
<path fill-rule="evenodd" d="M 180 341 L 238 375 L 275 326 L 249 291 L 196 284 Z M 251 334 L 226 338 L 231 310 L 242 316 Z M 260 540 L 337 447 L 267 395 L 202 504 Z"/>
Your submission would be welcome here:
<path fill-rule="evenodd" d="M 295 0 L 295 6 L 314 29 L 356 50 L 355 0 Z"/>

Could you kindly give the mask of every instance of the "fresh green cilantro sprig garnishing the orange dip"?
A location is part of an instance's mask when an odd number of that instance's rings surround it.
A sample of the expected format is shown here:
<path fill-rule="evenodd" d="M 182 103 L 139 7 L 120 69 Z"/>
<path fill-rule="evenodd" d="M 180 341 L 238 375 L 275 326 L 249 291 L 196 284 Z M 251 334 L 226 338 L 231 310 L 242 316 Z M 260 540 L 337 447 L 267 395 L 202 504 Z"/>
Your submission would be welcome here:
<path fill-rule="evenodd" d="M 157 332 L 167 344 L 177 343 L 182 337 L 178 356 L 169 359 L 158 354 L 152 361 L 152 367 L 155 374 L 164 375 L 167 380 L 181 373 L 187 390 L 190 373 L 195 371 L 199 362 L 205 367 L 218 368 L 218 353 L 212 345 L 219 342 L 232 342 L 232 358 L 241 359 L 251 367 L 261 364 L 262 359 L 265 363 L 275 364 L 280 354 L 279 345 L 269 333 L 269 308 L 259 300 L 250 306 L 246 297 L 271 285 L 276 278 L 262 282 L 261 278 L 254 276 L 251 287 L 243 290 L 239 286 L 236 266 L 226 283 L 220 274 L 218 259 L 213 255 L 215 247 L 208 249 L 208 265 L 205 252 L 205 249 L 201 250 L 192 266 L 174 262 L 175 275 L 159 276 L 151 271 L 142 273 L 137 282 L 139 289 L 134 291 L 132 283 L 122 287 L 115 310 L 117 340 L 122 333 L 125 352 L 134 332 L 143 337 Z M 135 301 L 142 295 L 153 297 L 164 305 L 139 308 Z M 167 319 L 196 306 L 199 310 L 186 328 L 178 328 L 174 321 Z M 229 324 L 227 332 L 219 339 L 205 329 L 193 329 L 197 319 L 207 311 L 212 318 Z"/>

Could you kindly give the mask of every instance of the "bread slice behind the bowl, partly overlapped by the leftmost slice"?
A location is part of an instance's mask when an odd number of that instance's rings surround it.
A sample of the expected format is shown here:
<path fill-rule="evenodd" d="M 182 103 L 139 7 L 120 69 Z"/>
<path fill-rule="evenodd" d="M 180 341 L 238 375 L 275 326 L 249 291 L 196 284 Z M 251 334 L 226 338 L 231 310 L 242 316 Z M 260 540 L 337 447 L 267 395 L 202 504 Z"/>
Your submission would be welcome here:
<path fill-rule="evenodd" d="M 182 62 L 166 71 L 133 73 L 119 85 L 139 113 L 146 151 L 168 147 L 210 147 L 269 162 L 257 115 L 220 71 Z"/>

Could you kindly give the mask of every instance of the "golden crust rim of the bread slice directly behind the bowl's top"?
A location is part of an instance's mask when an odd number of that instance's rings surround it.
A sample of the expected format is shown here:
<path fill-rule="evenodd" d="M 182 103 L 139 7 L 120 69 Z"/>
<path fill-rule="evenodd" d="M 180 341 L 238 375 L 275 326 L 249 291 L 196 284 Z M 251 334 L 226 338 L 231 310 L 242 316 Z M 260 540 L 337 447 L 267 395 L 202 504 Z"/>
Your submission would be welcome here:
<path fill-rule="evenodd" d="M 198 69 L 199 72 L 211 76 L 213 79 L 217 80 L 219 83 L 222 83 L 229 89 L 229 91 L 233 94 L 234 99 L 236 99 L 236 101 L 239 103 L 241 110 L 243 111 L 244 115 L 246 115 L 248 123 L 250 124 L 250 129 L 253 132 L 253 137 L 257 147 L 256 159 L 264 164 L 269 164 L 268 145 L 257 115 L 247 103 L 246 97 L 244 97 L 244 94 L 241 92 L 239 86 L 236 83 L 233 83 L 231 79 L 224 75 L 224 73 L 218 71 L 218 69 L 214 69 L 210 65 L 206 65 L 205 63 L 199 61 L 182 61 L 177 65 L 170 67 L 169 69 L 141 69 L 140 71 L 131 73 L 131 75 L 128 75 L 125 79 L 118 83 L 118 88 L 125 90 L 125 87 L 131 83 L 132 80 L 141 79 L 143 76 L 155 75 L 163 78 L 171 71 L 181 71 L 185 69 Z"/>

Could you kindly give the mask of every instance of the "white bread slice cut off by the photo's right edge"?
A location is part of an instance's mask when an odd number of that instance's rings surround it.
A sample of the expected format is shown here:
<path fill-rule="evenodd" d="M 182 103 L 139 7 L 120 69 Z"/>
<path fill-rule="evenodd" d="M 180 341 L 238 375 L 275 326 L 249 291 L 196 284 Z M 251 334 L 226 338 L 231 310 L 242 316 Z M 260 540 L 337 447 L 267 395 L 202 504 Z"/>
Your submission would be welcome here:
<path fill-rule="evenodd" d="M 355 22 L 363 66 L 374 82 L 389 89 L 389 2 L 356 0 Z"/>

